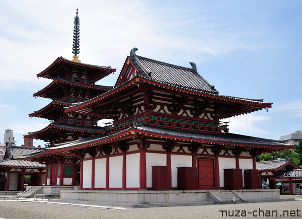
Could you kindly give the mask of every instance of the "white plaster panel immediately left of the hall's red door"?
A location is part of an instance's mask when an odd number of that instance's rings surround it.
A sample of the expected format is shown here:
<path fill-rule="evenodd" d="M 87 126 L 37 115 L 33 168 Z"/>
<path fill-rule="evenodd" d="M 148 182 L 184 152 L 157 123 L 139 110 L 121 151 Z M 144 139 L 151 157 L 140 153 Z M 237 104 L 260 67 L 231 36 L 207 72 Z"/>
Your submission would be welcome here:
<path fill-rule="evenodd" d="M 192 167 L 192 156 L 171 155 L 172 187 L 177 187 L 177 167 Z"/>

